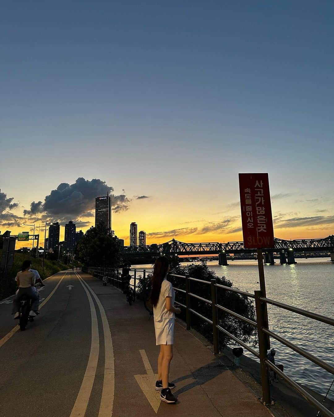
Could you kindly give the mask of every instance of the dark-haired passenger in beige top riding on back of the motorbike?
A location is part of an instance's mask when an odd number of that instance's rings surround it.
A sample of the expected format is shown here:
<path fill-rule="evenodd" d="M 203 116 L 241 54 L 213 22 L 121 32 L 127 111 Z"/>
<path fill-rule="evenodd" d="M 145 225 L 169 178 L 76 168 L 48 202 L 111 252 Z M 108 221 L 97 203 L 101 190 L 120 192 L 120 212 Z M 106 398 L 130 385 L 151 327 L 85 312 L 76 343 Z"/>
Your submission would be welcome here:
<path fill-rule="evenodd" d="M 35 310 L 38 311 L 38 295 L 35 291 L 35 278 L 33 272 L 29 271 L 31 262 L 30 261 L 24 261 L 22 264 L 21 271 L 18 272 L 16 275 L 16 281 L 18 284 L 18 293 L 15 295 L 13 299 L 13 309 L 12 314 L 15 314 L 14 319 L 17 319 L 19 317 L 19 309 L 20 309 L 20 298 L 23 295 L 27 295 L 32 300 L 33 304 L 31 306 L 32 311 L 30 311 L 30 314 L 32 316 L 35 316 Z M 36 305 L 37 304 L 37 305 Z"/>

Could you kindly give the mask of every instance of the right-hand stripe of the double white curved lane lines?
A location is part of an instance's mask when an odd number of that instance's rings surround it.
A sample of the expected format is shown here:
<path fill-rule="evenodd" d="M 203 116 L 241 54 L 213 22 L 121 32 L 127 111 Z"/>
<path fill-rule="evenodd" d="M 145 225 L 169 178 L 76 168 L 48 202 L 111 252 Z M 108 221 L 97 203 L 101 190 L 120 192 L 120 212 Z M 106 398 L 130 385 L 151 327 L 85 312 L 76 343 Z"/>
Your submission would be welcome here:
<path fill-rule="evenodd" d="M 106 312 L 104 311 L 104 307 L 102 306 L 101 301 L 96 296 L 95 292 L 91 289 L 91 287 L 78 274 L 77 276 L 79 280 L 82 281 L 86 285 L 91 295 L 94 297 L 96 304 L 99 307 L 100 314 L 101 314 L 103 332 L 104 332 L 105 360 L 104 360 L 104 380 L 103 380 L 103 389 L 102 389 L 99 417 L 111 417 L 113 413 L 114 395 L 115 395 L 115 364 L 114 364 L 114 349 L 112 346 L 110 327 L 109 327 L 108 319 L 106 317 Z"/>

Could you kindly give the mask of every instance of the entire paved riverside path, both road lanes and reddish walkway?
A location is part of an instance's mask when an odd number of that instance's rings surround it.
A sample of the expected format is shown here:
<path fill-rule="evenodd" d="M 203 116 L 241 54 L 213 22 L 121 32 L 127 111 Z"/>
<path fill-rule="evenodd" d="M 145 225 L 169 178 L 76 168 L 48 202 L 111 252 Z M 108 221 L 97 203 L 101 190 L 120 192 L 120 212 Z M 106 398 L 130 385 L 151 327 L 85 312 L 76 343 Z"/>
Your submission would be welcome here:
<path fill-rule="evenodd" d="M 11 332 L 11 299 L 0 301 L 0 416 L 272 415 L 179 324 L 171 365 L 179 403 L 161 403 L 159 348 L 142 302 L 129 306 L 119 290 L 81 272 L 46 284 L 25 332 Z"/>

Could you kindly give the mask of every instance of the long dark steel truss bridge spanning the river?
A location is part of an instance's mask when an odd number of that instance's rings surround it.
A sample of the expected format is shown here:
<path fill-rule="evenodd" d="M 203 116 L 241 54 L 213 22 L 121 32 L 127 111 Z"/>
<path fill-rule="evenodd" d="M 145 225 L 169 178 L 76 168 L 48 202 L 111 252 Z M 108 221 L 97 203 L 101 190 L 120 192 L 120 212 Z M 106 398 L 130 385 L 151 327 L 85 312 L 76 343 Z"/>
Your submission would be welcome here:
<path fill-rule="evenodd" d="M 334 252 L 334 235 L 324 239 L 298 239 L 284 240 L 276 239 L 273 248 L 266 248 L 268 252 Z M 124 246 L 121 248 L 123 257 L 149 257 L 164 255 L 219 255 L 226 254 L 252 254 L 256 249 L 245 249 L 243 242 L 228 243 L 185 243 L 172 239 L 162 244 L 146 246 Z"/>

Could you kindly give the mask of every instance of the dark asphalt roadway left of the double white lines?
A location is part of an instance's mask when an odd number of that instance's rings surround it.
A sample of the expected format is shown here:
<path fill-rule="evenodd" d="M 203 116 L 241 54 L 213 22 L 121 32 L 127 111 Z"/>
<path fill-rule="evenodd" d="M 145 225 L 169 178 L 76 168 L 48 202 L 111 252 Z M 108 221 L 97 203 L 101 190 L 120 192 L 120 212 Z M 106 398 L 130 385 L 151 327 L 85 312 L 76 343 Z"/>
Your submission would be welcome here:
<path fill-rule="evenodd" d="M 63 275 L 46 281 L 41 298 L 47 302 L 35 321 L 0 347 L 0 415 L 71 414 L 90 357 L 92 325 L 86 291 L 72 271 L 61 281 Z M 3 329 L 1 322 L 3 334 L 16 321 L 11 305 L 0 307 L 11 323 Z"/>

